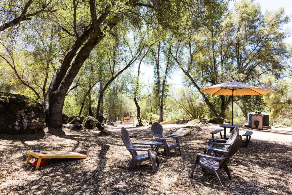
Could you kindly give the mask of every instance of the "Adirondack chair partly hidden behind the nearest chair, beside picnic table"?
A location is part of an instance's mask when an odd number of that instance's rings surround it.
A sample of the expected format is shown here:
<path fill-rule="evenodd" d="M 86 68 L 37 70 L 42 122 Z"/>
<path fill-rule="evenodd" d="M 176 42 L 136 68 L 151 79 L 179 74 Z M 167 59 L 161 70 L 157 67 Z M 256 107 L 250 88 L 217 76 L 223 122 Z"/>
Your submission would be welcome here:
<path fill-rule="evenodd" d="M 235 139 L 239 136 L 239 128 L 235 127 L 230 134 L 229 139 L 214 139 L 211 138 L 208 141 L 208 144 L 205 147 L 204 154 L 211 155 L 212 152 L 215 153 L 216 156 L 226 155 L 228 153 L 228 149 L 233 144 Z M 219 143 L 218 141 L 222 141 L 224 143 Z M 214 147 L 214 145 L 223 146 L 222 148 Z"/>

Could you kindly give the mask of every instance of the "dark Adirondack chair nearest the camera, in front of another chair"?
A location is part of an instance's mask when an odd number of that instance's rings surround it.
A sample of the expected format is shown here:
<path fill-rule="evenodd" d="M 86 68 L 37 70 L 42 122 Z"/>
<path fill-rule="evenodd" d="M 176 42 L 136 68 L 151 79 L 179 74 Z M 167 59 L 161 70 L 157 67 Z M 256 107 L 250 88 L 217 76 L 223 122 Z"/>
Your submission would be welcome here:
<path fill-rule="evenodd" d="M 210 156 L 206 154 L 197 153 L 196 155 L 196 162 L 193 165 L 191 177 L 193 177 L 195 165 L 199 165 L 202 167 L 203 171 L 209 170 L 217 176 L 221 185 L 223 185 L 223 178 L 220 172 L 220 169 L 223 168 L 227 175 L 228 179 L 231 180 L 231 175 L 229 169 L 227 167 L 227 163 L 229 162 L 230 158 L 236 153 L 239 148 L 241 142 L 241 135 L 239 135 L 233 144 L 230 145 L 229 151 L 224 158 L 219 158 L 216 156 Z"/>

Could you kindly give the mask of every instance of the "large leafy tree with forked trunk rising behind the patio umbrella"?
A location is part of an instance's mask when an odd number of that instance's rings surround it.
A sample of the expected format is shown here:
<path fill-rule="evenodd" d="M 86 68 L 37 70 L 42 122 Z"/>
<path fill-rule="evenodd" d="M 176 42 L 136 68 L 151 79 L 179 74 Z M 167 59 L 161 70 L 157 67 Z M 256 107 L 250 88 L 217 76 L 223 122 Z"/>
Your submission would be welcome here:
<path fill-rule="evenodd" d="M 283 9 L 263 15 L 259 4 L 239 1 L 230 13 L 210 18 L 202 31 L 187 30 L 171 54 L 198 90 L 231 79 L 248 82 L 285 68 L 291 52 L 282 26 L 288 20 Z M 202 96 L 214 115 L 225 117 L 231 97 L 220 96 L 219 110 L 206 94 Z"/>

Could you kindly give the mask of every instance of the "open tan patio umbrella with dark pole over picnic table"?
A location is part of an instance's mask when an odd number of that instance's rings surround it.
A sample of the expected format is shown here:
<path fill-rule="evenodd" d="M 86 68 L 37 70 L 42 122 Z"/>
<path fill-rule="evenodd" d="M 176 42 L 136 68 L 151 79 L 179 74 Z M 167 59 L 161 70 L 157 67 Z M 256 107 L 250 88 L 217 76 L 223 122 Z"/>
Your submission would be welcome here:
<path fill-rule="evenodd" d="M 236 80 L 227 81 L 225 83 L 212 85 L 201 89 L 199 92 L 212 95 L 232 95 L 232 125 L 233 125 L 233 96 L 252 96 L 271 93 L 267 89 L 255 87 L 250 84 L 238 82 Z"/>

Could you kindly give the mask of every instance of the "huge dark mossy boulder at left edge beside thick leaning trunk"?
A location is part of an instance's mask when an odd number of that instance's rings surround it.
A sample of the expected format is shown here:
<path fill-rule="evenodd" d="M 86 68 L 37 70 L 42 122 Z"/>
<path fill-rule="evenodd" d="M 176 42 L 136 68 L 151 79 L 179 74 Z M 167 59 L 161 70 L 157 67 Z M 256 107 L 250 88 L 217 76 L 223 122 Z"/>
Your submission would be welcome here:
<path fill-rule="evenodd" d="M 0 92 L 0 133 L 34 134 L 44 128 L 44 105 L 30 97 Z"/>

